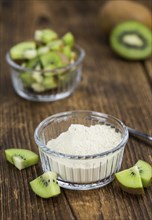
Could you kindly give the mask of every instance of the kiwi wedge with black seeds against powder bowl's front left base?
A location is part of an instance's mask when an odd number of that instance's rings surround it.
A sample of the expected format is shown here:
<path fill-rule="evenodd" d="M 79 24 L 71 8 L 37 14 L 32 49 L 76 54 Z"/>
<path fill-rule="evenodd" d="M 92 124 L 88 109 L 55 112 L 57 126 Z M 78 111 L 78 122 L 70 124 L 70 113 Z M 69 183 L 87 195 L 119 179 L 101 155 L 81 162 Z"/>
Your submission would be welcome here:
<path fill-rule="evenodd" d="M 33 192 L 42 198 L 50 198 L 60 194 L 57 175 L 51 171 L 48 171 L 31 181 L 30 186 Z"/>

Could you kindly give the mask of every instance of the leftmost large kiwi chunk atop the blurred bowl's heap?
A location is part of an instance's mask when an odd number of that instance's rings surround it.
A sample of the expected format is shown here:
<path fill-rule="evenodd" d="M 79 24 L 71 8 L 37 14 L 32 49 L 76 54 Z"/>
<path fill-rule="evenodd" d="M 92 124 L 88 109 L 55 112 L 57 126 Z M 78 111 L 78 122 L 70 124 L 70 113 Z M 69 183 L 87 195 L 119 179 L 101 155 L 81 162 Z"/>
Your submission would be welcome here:
<path fill-rule="evenodd" d="M 22 42 L 13 46 L 10 50 L 13 60 L 33 59 L 37 56 L 36 44 L 34 41 Z"/>

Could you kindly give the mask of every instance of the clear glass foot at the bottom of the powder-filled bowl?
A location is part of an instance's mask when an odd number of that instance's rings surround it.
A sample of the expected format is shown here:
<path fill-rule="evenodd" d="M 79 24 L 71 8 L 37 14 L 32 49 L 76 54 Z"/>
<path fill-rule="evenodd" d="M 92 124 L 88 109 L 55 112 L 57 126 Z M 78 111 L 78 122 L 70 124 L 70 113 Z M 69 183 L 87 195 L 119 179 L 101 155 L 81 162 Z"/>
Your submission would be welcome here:
<path fill-rule="evenodd" d="M 61 179 L 58 179 L 58 184 L 60 187 L 65 188 L 65 189 L 71 189 L 71 190 L 91 190 L 91 189 L 97 189 L 101 188 L 103 186 L 108 185 L 114 180 L 114 175 L 98 181 L 96 183 L 88 183 L 88 184 L 77 184 L 77 183 L 69 183 L 62 181 Z"/>

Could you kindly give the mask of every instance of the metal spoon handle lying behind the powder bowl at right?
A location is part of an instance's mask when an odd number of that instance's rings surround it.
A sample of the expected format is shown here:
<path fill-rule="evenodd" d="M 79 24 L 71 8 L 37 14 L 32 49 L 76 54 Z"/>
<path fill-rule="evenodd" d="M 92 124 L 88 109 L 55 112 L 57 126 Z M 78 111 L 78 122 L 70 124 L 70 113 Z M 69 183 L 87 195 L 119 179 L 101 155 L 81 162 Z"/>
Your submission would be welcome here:
<path fill-rule="evenodd" d="M 137 131 L 136 129 L 133 129 L 130 127 L 127 127 L 127 128 L 128 128 L 128 131 L 131 135 L 138 137 L 138 138 L 140 137 L 140 138 L 142 138 L 142 140 L 146 140 L 146 141 L 148 141 L 149 144 L 152 144 L 152 136 L 151 135 L 145 134 L 141 131 Z"/>

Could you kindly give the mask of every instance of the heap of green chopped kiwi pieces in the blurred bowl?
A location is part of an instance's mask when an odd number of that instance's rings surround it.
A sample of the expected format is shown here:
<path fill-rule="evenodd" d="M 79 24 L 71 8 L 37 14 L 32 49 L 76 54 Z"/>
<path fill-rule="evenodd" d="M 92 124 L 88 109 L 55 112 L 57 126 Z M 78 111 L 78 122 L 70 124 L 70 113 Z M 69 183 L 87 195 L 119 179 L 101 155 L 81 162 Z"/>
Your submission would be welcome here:
<path fill-rule="evenodd" d="M 62 68 L 76 60 L 73 50 L 74 36 L 68 32 L 58 38 L 50 29 L 35 31 L 35 41 L 22 42 L 10 49 L 14 62 L 25 68 L 19 74 L 23 86 L 35 93 L 45 92 L 67 82 L 66 76 L 55 69 Z M 63 72 L 63 70 L 61 70 Z"/>

